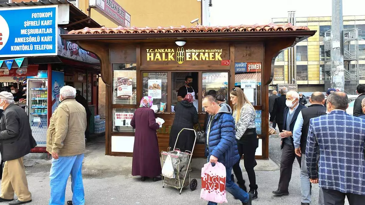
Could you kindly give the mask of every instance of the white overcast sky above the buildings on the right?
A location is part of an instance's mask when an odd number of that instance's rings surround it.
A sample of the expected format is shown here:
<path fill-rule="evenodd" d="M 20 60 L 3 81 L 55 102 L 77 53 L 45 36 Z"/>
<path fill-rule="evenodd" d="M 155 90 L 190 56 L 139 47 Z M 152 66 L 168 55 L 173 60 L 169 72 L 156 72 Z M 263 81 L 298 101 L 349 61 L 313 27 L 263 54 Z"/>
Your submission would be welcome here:
<path fill-rule="evenodd" d="M 207 1 L 207 0 L 205 0 Z M 332 0 L 212 0 L 211 26 L 266 24 L 272 18 L 331 16 Z M 344 16 L 365 15 L 365 0 L 342 0 Z"/>

